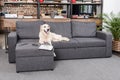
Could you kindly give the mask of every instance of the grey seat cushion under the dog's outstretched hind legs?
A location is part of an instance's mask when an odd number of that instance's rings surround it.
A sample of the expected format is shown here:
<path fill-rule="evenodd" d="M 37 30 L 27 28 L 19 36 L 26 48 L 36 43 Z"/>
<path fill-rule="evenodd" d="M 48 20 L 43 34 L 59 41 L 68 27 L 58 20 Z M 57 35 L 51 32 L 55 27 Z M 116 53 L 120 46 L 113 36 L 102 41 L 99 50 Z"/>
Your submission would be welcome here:
<path fill-rule="evenodd" d="M 52 43 L 55 49 L 59 48 L 77 48 L 79 47 L 78 41 L 75 39 L 70 39 L 70 41 L 60 41 Z"/>

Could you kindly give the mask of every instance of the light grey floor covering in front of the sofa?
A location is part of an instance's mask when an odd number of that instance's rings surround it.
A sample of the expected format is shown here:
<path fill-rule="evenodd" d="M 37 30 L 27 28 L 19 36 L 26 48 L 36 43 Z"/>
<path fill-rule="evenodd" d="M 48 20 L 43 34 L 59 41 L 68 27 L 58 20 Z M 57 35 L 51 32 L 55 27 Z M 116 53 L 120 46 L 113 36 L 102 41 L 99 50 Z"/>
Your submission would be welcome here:
<path fill-rule="evenodd" d="M 55 61 L 53 71 L 16 73 L 0 50 L 0 80 L 120 80 L 120 57 Z"/>

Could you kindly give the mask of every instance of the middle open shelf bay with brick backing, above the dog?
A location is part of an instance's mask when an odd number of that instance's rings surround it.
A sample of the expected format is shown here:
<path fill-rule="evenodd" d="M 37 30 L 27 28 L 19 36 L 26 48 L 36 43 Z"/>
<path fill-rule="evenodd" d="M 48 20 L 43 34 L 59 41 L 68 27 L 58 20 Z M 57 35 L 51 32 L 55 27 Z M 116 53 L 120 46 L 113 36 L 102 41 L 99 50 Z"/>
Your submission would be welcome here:
<path fill-rule="evenodd" d="M 40 13 L 41 18 L 70 18 L 70 2 L 40 3 Z"/>

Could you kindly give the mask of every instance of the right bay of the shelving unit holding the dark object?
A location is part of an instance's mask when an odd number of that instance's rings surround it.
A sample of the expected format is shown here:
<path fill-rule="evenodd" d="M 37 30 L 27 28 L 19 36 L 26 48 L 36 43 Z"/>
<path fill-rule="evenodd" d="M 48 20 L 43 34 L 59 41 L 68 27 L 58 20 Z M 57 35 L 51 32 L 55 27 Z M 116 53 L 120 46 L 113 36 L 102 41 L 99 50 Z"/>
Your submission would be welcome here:
<path fill-rule="evenodd" d="M 71 3 L 71 19 L 102 25 L 103 0 L 76 0 Z"/>

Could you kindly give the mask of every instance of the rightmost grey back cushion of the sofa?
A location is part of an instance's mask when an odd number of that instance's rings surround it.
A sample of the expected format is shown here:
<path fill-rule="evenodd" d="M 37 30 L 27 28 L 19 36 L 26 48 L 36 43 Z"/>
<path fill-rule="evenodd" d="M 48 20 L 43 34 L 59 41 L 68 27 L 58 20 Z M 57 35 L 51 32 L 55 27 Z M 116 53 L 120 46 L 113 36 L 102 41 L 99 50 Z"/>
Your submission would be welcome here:
<path fill-rule="evenodd" d="M 73 37 L 96 36 L 96 23 L 72 21 L 72 36 Z"/>

